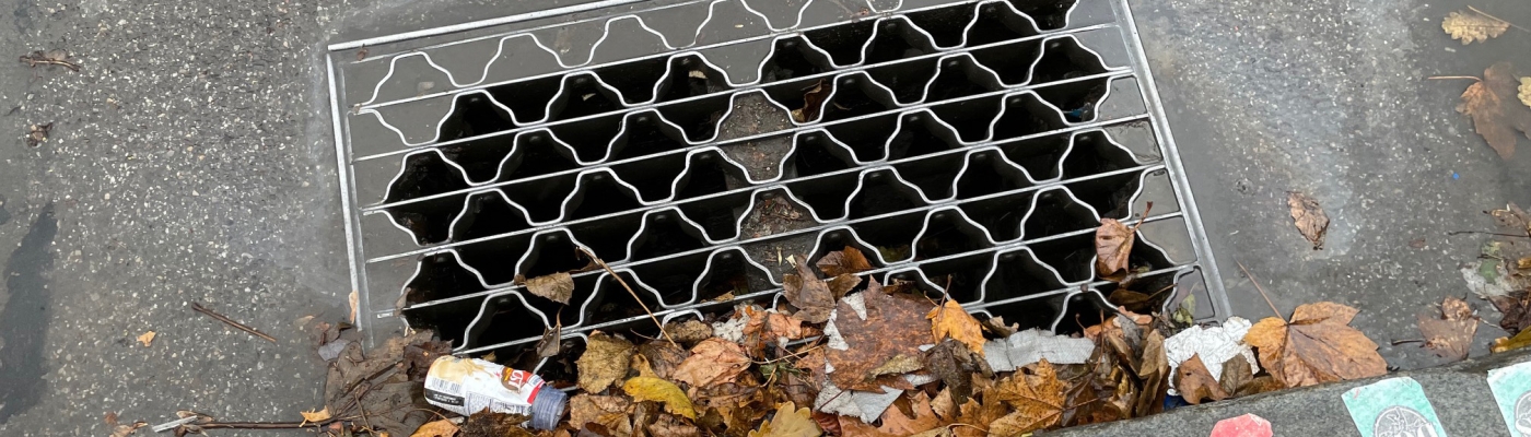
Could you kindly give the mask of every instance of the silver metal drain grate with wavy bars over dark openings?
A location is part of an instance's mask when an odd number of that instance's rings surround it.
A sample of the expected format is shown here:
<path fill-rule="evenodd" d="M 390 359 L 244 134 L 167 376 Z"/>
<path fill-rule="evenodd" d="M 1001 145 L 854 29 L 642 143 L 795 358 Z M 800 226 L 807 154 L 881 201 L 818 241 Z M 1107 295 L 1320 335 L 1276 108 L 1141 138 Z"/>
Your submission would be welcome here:
<path fill-rule="evenodd" d="M 1133 264 L 1225 315 L 1124 2 L 916 3 L 641 3 L 332 46 L 363 325 L 484 353 L 560 319 L 579 348 L 652 322 L 602 270 L 566 307 L 517 274 L 588 246 L 669 322 L 769 306 L 782 258 L 854 246 L 882 281 L 1067 332 L 1115 287 L 1099 220 L 1148 202 Z"/>

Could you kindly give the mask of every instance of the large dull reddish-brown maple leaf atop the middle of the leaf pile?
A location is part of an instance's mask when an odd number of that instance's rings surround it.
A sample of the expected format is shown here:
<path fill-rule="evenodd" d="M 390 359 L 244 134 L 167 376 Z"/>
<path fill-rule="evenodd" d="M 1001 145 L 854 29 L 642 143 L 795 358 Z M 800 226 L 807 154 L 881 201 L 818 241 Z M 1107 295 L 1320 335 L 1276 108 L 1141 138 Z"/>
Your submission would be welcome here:
<path fill-rule="evenodd" d="M 929 332 L 912 329 L 925 325 L 925 313 L 932 307 L 928 301 L 886 293 L 876 280 L 860 293 L 867 318 L 862 319 L 844 299 L 834 312 L 834 329 L 845 339 L 847 348 L 828 347 L 825 356 L 834 371 L 830 380 L 839 388 L 882 391 L 873 370 L 897 356 L 920 356 L 920 345 L 929 344 Z"/>

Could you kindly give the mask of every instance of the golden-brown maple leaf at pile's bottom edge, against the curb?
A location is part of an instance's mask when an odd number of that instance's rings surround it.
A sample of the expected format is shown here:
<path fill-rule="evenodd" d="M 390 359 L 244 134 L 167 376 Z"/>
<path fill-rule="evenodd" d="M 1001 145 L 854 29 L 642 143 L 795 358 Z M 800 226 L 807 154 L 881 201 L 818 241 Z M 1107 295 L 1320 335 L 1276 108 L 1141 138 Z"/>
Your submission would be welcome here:
<path fill-rule="evenodd" d="M 984 400 L 998 400 L 1010 405 L 1015 413 L 1001 417 L 989 425 L 989 434 L 1021 435 L 1026 432 L 1047 429 L 1063 420 L 1067 409 L 1069 387 L 1058 379 L 1056 370 L 1046 359 L 1035 367 L 1027 367 L 1030 374 L 1015 373 L 1009 379 L 1000 380 Z"/>

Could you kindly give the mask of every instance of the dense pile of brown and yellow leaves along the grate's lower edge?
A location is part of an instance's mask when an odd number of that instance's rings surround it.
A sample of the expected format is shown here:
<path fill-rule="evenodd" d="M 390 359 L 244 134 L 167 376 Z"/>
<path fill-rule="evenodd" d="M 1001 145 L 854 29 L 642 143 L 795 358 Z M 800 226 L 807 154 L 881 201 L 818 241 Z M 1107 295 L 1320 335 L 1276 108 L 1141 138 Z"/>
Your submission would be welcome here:
<path fill-rule="evenodd" d="M 1099 267 L 1124 284 L 1113 296 L 1150 299 L 1125 290 L 1134 228 L 1101 229 Z M 775 307 L 739 304 L 654 338 L 591 333 L 577 380 L 553 382 L 574 388 L 566 419 L 536 435 L 1021 435 L 1386 373 L 1349 327 L 1356 310 L 1334 303 L 1220 325 L 1102 309 L 1104 322 L 1061 336 L 863 278 L 854 248 L 804 260 Z M 415 435 L 481 435 L 433 426 Z"/>

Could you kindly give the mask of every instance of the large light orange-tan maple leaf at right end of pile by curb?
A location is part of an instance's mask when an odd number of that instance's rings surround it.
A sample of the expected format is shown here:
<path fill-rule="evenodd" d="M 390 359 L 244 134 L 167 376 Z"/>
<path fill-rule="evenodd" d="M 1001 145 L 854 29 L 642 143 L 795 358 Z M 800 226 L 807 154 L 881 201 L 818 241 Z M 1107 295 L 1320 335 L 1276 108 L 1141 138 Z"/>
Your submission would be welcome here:
<path fill-rule="evenodd" d="M 1304 387 L 1387 373 L 1376 342 L 1350 327 L 1356 309 L 1337 303 L 1298 306 L 1292 321 L 1265 318 L 1245 342 L 1260 351 L 1260 367 L 1286 387 Z"/>

